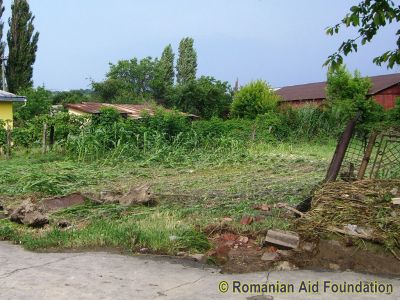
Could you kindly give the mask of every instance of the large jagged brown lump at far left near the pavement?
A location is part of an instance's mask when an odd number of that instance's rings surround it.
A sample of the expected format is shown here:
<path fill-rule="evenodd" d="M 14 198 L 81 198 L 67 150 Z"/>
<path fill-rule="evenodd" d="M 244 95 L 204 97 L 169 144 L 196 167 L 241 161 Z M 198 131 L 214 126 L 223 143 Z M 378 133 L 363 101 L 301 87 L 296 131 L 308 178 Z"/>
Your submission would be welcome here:
<path fill-rule="evenodd" d="M 49 219 L 43 207 L 33 203 L 30 199 L 25 200 L 10 215 L 10 220 L 31 227 L 43 227 L 49 223 Z"/>

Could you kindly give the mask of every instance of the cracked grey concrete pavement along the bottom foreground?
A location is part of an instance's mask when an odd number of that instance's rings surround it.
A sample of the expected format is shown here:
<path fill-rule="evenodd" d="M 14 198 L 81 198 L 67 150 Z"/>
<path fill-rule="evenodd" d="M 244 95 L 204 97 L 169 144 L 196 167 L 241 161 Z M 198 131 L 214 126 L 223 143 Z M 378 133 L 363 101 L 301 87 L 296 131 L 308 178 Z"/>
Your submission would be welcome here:
<path fill-rule="evenodd" d="M 233 294 L 233 281 L 244 284 L 293 284 L 291 294 Z M 319 294 L 299 293 L 301 281 L 319 281 Z M 323 281 L 375 281 L 393 287 L 391 295 L 324 293 Z M 221 281 L 229 285 L 223 294 Z M 238 284 L 238 283 L 237 283 Z M 282 287 L 282 285 L 281 285 Z M 221 289 L 225 289 L 225 283 Z M 314 286 L 315 288 L 315 286 Z M 253 297 L 253 298 L 251 298 Z M 171 258 L 130 257 L 108 253 L 32 253 L 0 243 L 0 299 L 400 299 L 400 279 L 312 271 L 220 274 L 217 269 Z"/>

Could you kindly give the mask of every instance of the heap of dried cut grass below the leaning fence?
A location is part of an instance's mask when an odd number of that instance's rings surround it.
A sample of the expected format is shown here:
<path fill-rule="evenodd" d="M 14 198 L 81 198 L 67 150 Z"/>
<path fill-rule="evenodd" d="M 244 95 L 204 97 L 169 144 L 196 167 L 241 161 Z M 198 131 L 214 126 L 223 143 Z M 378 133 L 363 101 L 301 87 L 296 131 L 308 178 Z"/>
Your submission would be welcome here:
<path fill-rule="evenodd" d="M 400 259 L 400 180 L 332 182 L 317 191 L 298 220 L 305 237 L 337 233 L 384 245 Z"/>

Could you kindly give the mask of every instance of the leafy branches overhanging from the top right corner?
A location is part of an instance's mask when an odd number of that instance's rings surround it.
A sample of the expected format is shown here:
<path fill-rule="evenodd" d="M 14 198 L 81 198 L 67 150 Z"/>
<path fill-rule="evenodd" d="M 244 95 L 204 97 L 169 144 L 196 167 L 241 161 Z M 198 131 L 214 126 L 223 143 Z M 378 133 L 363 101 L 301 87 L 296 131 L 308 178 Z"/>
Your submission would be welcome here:
<path fill-rule="evenodd" d="M 352 6 L 350 12 L 342 21 L 332 27 L 328 27 L 328 35 L 339 33 L 343 26 L 358 28 L 358 36 L 344 41 L 338 51 L 328 57 L 324 65 L 335 68 L 343 63 L 343 55 L 347 56 L 357 52 L 359 44 L 365 45 L 373 40 L 378 31 L 388 23 L 400 21 L 400 5 L 392 0 L 364 0 L 360 4 Z M 396 32 L 396 48 L 386 51 L 375 57 L 373 62 L 377 65 L 387 62 L 388 68 L 400 64 L 400 30 Z M 359 42 L 360 41 L 360 42 Z"/>

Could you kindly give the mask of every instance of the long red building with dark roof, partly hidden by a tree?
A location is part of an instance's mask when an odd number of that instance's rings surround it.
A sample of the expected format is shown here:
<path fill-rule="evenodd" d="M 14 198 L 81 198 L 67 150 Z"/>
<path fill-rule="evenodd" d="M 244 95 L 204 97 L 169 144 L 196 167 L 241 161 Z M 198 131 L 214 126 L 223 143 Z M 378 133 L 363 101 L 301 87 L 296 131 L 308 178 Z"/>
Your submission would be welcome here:
<path fill-rule="evenodd" d="M 369 77 L 372 87 L 368 96 L 385 109 L 391 109 L 400 97 L 400 73 Z M 280 88 L 276 91 L 282 97 L 282 103 L 291 106 L 304 104 L 319 105 L 326 99 L 326 82 L 293 85 Z"/>

